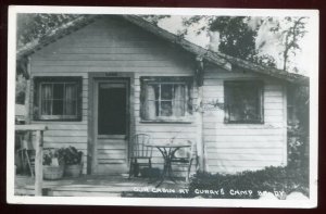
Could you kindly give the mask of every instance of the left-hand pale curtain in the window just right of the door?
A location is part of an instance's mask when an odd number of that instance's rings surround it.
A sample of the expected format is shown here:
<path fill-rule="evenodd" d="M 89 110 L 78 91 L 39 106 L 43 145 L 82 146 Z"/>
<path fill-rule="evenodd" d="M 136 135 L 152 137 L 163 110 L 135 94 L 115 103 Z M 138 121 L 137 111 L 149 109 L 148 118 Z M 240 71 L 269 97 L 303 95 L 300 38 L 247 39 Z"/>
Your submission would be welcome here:
<path fill-rule="evenodd" d="M 143 115 L 145 115 L 146 119 L 155 118 L 155 90 L 154 90 L 154 85 L 146 85 Z"/>

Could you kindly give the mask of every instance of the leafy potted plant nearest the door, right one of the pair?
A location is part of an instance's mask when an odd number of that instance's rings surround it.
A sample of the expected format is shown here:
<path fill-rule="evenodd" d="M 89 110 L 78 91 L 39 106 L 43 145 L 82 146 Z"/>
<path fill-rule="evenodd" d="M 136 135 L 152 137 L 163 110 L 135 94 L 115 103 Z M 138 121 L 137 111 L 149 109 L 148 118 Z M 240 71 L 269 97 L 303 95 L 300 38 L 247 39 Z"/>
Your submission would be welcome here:
<path fill-rule="evenodd" d="M 60 150 L 64 159 L 64 176 L 78 177 L 83 169 L 83 152 L 74 147 L 62 148 Z"/>

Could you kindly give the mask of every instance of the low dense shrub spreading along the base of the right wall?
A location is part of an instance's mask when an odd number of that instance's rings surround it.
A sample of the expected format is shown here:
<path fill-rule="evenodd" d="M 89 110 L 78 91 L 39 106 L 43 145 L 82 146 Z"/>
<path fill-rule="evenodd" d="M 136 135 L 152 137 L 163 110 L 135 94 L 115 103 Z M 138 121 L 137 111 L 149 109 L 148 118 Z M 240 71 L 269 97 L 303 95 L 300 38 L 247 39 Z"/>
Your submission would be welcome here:
<path fill-rule="evenodd" d="M 269 166 L 261 171 L 247 171 L 234 175 L 197 173 L 190 181 L 189 192 L 196 194 L 196 189 L 224 190 L 224 194 L 202 194 L 204 198 L 256 199 L 260 192 L 300 191 L 309 196 L 309 173 L 291 167 Z M 252 194 L 231 194 L 230 190 L 248 191 Z"/>

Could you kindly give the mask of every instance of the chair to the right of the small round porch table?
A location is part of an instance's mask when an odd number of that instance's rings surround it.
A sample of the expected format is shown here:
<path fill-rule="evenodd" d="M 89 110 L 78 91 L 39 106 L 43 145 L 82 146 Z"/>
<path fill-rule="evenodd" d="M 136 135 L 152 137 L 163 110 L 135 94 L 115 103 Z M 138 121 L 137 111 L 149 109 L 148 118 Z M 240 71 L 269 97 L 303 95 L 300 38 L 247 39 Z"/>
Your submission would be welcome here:
<path fill-rule="evenodd" d="M 181 148 L 177 150 L 176 152 L 173 153 L 171 163 L 180 163 L 180 164 L 187 164 L 187 177 L 186 177 L 186 182 L 189 181 L 190 177 L 190 171 L 191 171 L 191 165 L 193 160 L 196 161 L 196 169 L 198 169 L 198 154 L 196 150 L 196 143 L 188 140 L 188 142 L 191 143 L 190 148 Z"/>

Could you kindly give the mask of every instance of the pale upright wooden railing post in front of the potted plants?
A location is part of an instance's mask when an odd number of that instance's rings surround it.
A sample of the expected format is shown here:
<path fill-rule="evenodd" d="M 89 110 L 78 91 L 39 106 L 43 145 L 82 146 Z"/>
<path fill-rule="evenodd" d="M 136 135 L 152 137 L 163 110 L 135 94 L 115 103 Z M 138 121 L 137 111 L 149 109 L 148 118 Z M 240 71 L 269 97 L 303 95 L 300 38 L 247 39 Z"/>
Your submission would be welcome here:
<path fill-rule="evenodd" d="M 42 181 L 43 181 L 43 169 L 42 169 L 42 130 L 36 130 L 36 153 L 35 153 L 35 196 L 42 196 Z"/>

